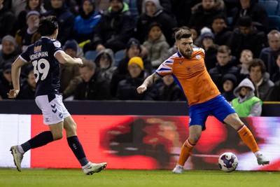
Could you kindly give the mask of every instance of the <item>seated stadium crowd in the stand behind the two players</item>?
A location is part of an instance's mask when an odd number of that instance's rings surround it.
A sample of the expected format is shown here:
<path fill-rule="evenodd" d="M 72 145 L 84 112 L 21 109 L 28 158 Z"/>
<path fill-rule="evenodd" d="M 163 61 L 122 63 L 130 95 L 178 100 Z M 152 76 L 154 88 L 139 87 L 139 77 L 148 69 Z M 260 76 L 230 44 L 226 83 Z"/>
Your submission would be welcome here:
<path fill-rule="evenodd" d="M 41 38 L 38 22 L 48 15 L 58 19 L 64 52 L 84 63 L 61 66 L 64 99 L 185 100 L 172 76 L 143 95 L 137 88 L 176 53 L 174 33 L 188 28 L 228 102 L 241 97 L 234 90 L 245 78 L 251 95 L 280 102 L 280 31 L 257 0 L 0 0 L 0 100 L 13 89 L 11 64 Z M 29 64 L 17 99 L 34 99 L 35 90 Z"/>

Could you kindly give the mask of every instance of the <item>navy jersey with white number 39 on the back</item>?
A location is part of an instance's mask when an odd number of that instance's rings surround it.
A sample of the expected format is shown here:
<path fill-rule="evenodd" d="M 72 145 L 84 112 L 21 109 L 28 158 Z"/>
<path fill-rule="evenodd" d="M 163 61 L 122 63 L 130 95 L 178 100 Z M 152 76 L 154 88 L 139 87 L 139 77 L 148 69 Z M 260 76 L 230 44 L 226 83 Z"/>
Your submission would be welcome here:
<path fill-rule="evenodd" d="M 59 93 L 59 67 L 55 53 L 62 50 L 61 44 L 55 39 L 42 36 L 40 40 L 28 46 L 27 50 L 20 54 L 20 58 L 31 61 L 36 77 L 36 96 Z"/>

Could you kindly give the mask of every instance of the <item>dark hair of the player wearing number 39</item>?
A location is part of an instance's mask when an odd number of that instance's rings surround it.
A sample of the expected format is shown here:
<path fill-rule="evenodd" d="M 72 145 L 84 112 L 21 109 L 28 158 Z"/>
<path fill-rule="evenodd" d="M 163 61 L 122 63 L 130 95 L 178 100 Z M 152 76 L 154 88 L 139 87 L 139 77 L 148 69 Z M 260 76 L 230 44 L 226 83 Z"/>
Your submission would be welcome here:
<path fill-rule="evenodd" d="M 42 17 L 39 22 L 38 32 L 41 36 L 50 36 L 58 29 L 57 18 L 53 15 Z"/>

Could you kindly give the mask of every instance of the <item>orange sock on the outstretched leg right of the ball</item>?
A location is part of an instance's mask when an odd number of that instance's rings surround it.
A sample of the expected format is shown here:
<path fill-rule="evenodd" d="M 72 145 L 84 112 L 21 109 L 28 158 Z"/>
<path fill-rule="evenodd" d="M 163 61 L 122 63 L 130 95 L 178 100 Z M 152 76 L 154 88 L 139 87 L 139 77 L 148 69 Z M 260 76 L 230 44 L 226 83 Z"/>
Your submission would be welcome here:
<path fill-rule="evenodd" d="M 246 146 L 248 146 L 248 148 L 251 149 L 251 151 L 253 151 L 253 153 L 260 151 L 257 142 L 255 142 L 255 138 L 253 137 L 252 132 L 246 127 L 246 125 L 241 125 L 237 132 L 242 141 L 246 144 Z"/>

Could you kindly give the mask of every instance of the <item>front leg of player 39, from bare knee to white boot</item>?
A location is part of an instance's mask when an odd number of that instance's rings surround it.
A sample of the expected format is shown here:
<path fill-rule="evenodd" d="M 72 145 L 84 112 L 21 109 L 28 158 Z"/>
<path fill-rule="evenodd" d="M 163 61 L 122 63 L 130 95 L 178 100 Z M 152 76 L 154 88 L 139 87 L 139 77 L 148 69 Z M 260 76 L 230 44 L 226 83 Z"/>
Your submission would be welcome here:
<path fill-rule="evenodd" d="M 83 150 L 82 144 L 77 137 L 76 133 L 76 123 L 71 116 L 64 118 L 64 129 L 66 130 L 66 137 L 68 145 L 76 156 L 77 160 L 83 168 L 85 174 L 94 174 L 95 172 L 100 172 L 107 165 L 106 162 L 103 163 L 92 163 L 87 160 L 85 156 L 85 151 Z"/>

